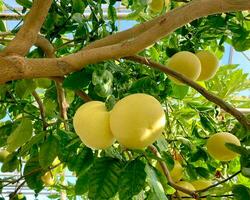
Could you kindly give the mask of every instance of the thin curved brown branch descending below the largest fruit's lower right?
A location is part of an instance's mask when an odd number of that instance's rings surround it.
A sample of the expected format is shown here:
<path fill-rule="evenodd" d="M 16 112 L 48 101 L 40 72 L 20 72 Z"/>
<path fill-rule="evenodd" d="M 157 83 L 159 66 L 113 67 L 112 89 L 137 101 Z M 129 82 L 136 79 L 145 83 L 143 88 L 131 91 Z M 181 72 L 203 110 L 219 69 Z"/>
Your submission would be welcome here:
<path fill-rule="evenodd" d="M 155 156 L 157 156 L 158 158 L 161 158 L 161 154 L 159 153 L 159 151 L 157 150 L 157 148 L 156 148 L 155 146 L 150 145 L 148 148 L 152 151 L 152 153 L 153 153 Z M 199 197 L 198 194 L 197 194 L 195 191 L 191 191 L 191 190 L 188 190 L 188 189 L 186 189 L 186 188 L 183 188 L 183 187 L 177 185 L 177 184 L 173 181 L 173 179 L 172 179 L 172 177 L 171 177 L 171 175 L 170 175 L 170 171 L 169 171 L 169 169 L 167 168 L 166 164 L 165 164 L 163 161 L 158 161 L 158 162 L 160 163 L 161 168 L 162 168 L 162 170 L 163 170 L 163 172 L 164 172 L 164 175 L 166 176 L 166 178 L 167 178 L 168 183 L 169 183 L 170 186 L 172 186 L 172 187 L 175 188 L 176 190 L 179 190 L 179 191 L 181 191 L 181 192 L 184 192 L 185 194 L 190 195 L 191 197 L 193 197 L 193 198 L 195 198 L 195 199 L 197 199 L 197 198 Z"/>

